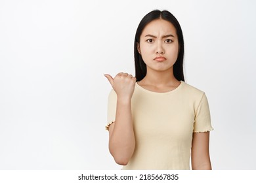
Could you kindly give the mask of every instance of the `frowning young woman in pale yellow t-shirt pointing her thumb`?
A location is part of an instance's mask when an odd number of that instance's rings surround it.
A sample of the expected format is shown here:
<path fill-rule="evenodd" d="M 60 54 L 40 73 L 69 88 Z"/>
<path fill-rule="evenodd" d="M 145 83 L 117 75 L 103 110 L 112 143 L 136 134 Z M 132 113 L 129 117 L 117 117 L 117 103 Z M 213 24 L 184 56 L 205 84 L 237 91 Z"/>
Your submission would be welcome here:
<path fill-rule="evenodd" d="M 167 10 L 142 18 L 135 77 L 105 75 L 109 150 L 123 169 L 211 169 L 205 93 L 184 82 L 181 26 Z"/>

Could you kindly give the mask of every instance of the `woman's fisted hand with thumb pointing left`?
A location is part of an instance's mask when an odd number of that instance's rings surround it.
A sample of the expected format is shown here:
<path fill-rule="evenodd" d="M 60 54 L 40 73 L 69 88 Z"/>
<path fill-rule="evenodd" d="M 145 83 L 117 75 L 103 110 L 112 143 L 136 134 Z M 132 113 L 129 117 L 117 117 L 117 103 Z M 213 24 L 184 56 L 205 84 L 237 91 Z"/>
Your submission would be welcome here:
<path fill-rule="evenodd" d="M 108 74 L 104 74 L 115 90 L 118 99 L 131 100 L 135 89 L 136 78 L 127 73 L 118 73 L 114 78 Z"/>

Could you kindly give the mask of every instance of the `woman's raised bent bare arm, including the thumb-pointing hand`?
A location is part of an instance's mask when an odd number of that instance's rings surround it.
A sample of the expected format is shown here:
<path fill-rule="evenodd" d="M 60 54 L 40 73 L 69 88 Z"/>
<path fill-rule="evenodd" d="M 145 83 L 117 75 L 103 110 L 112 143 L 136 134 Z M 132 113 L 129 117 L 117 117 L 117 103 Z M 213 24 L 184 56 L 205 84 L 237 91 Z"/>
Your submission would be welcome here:
<path fill-rule="evenodd" d="M 116 121 L 108 128 L 109 150 L 117 164 L 127 165 L 135 149 L 131 97 L 136 78 L 127 73 L 119 73 L 115 78 L 105 76 L 117 94 Z"/>

